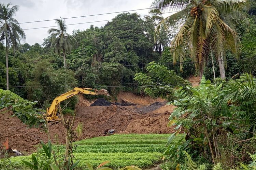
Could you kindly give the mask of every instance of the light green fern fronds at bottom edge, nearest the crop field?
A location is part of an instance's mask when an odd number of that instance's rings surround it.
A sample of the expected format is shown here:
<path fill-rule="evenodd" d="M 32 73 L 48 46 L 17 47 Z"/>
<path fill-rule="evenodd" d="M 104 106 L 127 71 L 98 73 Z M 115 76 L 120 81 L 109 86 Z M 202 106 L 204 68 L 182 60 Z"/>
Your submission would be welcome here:
<path fill-rule="evenodd" d="M 207 167 L 205 165 L 197 165 L 194 159 L 186 152 L 185 154 L 185 166 L 187 170 L 206 170 Z M 222 169 L 222 163 L 217 163 L 214 165 L 212 170 L 221 170 Z"/>

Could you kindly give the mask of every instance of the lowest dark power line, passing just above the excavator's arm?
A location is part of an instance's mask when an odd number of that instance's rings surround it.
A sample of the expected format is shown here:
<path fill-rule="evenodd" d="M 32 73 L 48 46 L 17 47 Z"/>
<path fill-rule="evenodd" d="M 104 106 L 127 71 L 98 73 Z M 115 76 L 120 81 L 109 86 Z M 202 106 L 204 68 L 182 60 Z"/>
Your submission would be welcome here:
<path fill-rule="evenodd" d="M 232 82 L 220 82 L 220 83 L 238 83 L 238 82 L 254 82 L 256 80 L 245 80 L 245 81 L 232 81 Z M 108 86 L 108 87 L 157 87 L 157 86 L 184 86 L 184 85 L 199 85 L 199 84 L 216 84 L 215 82 L 211 83 L 185 83 L 185 84 L 155 84 L 155 85 L 134 85 L 134 86 Z M 6 87 L 6 85 L 1 85 L 0 87 Z M 67 86 L 9 86 L 9 87 L 44 87 L 44 88 L 67 88 Z M 69 88 L 74 88 L 76 86 L 69 86 Z M 95 86 L 84 86 L 80 88 L 94 88 Z M 103 87 L 103 86 L 96 86 Z"/>

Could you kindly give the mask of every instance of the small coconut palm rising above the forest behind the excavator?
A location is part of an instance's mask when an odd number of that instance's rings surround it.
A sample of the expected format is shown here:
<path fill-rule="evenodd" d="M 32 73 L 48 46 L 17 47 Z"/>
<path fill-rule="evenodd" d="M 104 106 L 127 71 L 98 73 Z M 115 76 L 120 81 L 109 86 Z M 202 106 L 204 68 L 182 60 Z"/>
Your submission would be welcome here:
<path fill-rule="evenodd" d="M 48 30 L 48 33 L 55 39 L 56 48 L 55 52 L 60 53 L 62 50 L 63 52 L 63 59 L 64 59 L 64 68 L 66 68 L 66 53 L 70 52 L 72 49 L 72 40 L 76 41 L 76 39 L 68 34 L 67 26 L 65 24 L 65 20 L 57 19 L 56 22 L 58 24 L 59 29 L 51 28 Z M 76 41 L 77 43 L 77 41 Z"/>

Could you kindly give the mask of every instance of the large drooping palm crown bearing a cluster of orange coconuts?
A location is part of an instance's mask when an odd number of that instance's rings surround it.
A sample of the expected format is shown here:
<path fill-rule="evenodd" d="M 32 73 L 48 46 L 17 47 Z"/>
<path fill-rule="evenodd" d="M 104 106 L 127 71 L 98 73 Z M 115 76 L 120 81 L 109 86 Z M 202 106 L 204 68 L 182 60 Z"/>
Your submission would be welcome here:
<path fill-rule="evenodd" d="M 234 21 L 245 19 L 246 0 L 155 0 L 153 7 L 160 10 L 179 11 L 163 19 L 156 29 L 179 27 L 173 42 L 173 62 L 180 59 L 180 68 L 187 53 L 199 69 L 200 78 L 210 48 L 219 61 L 221 78 L 225 79 L 225 50 L 239 51 L 239 38 Z M 163 25 L 164 27 L 161 27 Z"/>

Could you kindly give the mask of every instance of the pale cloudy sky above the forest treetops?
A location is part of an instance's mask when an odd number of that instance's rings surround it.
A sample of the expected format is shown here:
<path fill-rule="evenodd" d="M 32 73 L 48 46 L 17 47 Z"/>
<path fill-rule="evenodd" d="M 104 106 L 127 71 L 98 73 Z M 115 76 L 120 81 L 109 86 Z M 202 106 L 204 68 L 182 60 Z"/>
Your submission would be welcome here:
<path fill-rule="evenodd" d="M 110 12 L 137 10 L 148 8 L 153 0 L 2 0 L 4 3 L 11 2 L 13 5 L 19 5 L 19 11 L 15 18 L 18 22 L 39 21 L 47 19 L 56 19 L 59 17 L 76 17 L 84 15 L 102 14 Z M 136 11 L 141 15 L 147 15 L 149 10 Z M 109 20 L 117 14 L 90 16 L 82 18 L 66 19 L 67 24 L 92 22 L 100 20 Z M 73 30 L 84 30 L 89 28 L 91 24 L 94 26 L 104 26 L 104 22 L 77 24 L 68 26 L 68 33 Z M 51 27 L 55 26 L 55 21 L 23 23 L 20 24 L 22 29 Z M 34 43 L 43 43 L 43 39 L 49 34 L 49 28 L 24 30 L 27 36 L 26 43 L 32 45 Z"/>

